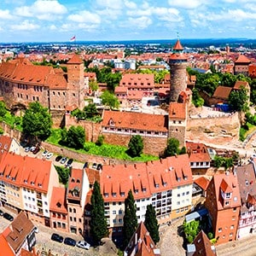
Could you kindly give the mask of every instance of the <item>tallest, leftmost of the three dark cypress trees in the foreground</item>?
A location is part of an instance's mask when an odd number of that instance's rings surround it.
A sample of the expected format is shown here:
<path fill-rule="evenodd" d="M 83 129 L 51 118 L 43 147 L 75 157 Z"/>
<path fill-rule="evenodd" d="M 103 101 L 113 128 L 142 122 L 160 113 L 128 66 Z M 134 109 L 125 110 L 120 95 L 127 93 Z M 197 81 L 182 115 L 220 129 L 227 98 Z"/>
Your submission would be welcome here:
<path fill-rule="evenodd" d="M 94 183 L 90 204 L 90 233 L 93 241 L 99 244 L 102 238 L 108 235 L 108 224 L 104 215 L 104 201 L 98 182 Z"/>

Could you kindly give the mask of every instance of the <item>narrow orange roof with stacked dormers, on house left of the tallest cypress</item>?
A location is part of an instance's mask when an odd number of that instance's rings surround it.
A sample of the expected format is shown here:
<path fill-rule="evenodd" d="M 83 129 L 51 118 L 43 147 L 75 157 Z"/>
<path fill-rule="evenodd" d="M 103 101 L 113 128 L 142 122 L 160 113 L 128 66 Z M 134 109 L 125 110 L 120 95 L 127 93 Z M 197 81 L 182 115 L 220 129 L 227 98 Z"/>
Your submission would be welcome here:
<path fill-rule="evenodd" d="M 82 196 L 84 170 L 73 168 L 68 181 L 67 199 L 79 200 Z"/>

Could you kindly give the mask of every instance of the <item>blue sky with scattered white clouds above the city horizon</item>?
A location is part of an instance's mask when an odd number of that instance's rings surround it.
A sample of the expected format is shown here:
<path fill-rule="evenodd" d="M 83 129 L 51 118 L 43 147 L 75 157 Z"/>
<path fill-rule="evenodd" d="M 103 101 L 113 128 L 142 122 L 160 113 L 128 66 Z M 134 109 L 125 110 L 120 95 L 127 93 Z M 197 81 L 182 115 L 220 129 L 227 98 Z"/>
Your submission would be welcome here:
<path fill-rule="evenodd" d="M 256 38 L 256 0 L 0 0 L 0 42 Z"/>

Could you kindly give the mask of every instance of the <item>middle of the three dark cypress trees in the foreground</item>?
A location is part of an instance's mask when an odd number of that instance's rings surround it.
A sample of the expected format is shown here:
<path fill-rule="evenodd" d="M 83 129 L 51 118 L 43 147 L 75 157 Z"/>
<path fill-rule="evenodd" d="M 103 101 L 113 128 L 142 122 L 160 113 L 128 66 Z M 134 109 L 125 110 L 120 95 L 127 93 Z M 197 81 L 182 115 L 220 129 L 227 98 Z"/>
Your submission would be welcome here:
<path fill-rule="evenodd" d="M 131 189 L 125 198 L 125 216 L 124 216 L 124 244 L 123 247 L 127 247 L 131 236 L 137 229 L 137 207 L 132 195 Z"/>

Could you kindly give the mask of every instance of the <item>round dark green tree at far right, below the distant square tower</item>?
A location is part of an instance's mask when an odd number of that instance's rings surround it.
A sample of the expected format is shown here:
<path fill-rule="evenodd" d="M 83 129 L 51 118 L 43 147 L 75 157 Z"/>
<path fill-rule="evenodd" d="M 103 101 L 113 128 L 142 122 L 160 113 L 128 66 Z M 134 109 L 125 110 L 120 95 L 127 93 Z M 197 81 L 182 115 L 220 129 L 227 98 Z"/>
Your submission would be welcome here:
<path fill-rule="evenodd" d="M 248 108 L 247 101 L 247 89 L 244 86 L 241 86 L 240 90 L 233 90 L 230 92 L 229 103 L 233 110 L 245 112 Z"/>

